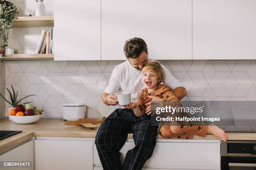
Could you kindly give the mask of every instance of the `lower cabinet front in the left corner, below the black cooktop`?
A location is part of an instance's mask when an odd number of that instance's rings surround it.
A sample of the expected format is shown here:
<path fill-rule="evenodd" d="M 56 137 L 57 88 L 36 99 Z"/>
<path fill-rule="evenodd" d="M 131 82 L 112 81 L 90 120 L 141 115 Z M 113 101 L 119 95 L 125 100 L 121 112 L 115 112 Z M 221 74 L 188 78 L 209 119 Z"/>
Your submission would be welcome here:
<path fill-rule="evenodd" d="M 17 170 L 34 170 L 34 142 L 30 140 L 23 143 L 15 148 L 8 150 L 7 152 L 0 155 L 0 161 L 7 162 L 20 162 L 20 161 L 31 161 L 31 167 L 28 168 L 17 168 Z M 10 170 L 12 168 L 0 168 L 1 170 Z M 16 168 L 13 168 L 16 169 Z"/>

